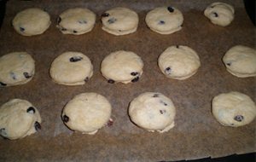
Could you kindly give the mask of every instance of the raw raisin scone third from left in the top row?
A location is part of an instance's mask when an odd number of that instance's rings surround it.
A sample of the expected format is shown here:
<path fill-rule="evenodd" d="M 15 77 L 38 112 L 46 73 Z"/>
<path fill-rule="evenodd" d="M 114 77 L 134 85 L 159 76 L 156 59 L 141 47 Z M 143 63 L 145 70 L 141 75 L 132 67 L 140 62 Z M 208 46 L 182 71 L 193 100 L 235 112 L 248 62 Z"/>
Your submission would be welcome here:
<path fill-rule="evenodd" d="M 131 9 L 114 8 L 102 14 L 102 29 L 120 36 L 137 31 L 138 15 Z"/>

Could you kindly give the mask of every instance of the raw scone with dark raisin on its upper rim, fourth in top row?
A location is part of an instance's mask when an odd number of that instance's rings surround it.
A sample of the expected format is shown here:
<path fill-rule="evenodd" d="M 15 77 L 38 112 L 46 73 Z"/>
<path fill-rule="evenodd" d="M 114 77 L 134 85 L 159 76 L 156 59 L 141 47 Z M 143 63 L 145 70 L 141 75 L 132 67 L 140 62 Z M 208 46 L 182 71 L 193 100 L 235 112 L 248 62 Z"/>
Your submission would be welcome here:
<path fill-rule="evenodd" d="M 154 32 L 171 34 L 182 29 L 183 14 L 171 6 L 160 7 L 148 12 L 146 23 Z"/>

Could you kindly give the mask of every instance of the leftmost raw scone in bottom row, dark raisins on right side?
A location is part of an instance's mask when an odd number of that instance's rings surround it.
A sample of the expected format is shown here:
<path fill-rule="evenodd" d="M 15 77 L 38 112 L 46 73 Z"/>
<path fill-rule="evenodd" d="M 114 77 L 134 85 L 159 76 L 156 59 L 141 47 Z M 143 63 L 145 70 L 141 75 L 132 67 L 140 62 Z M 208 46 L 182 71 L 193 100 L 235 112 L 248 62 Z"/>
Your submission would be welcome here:
<path fill-rule="evenodd" d="M 10 140 L 30 136 L 41 129 L 41 117 L 29 101 L 13 99 L 0 107 L 0 135 Z"/>

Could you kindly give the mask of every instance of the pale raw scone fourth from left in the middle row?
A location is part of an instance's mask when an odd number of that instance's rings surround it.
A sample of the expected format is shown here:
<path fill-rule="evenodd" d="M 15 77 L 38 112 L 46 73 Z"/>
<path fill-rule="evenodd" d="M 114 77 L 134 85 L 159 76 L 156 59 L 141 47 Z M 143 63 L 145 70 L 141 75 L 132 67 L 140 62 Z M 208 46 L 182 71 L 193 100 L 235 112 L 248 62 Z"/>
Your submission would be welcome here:
<path fill-rule="evenodd" d="M 194 75 L 201 63 L 195 50 L 177 45 L 167 48 L 160 55 L 158 65 L 166 77 L 183 80 Z"/>

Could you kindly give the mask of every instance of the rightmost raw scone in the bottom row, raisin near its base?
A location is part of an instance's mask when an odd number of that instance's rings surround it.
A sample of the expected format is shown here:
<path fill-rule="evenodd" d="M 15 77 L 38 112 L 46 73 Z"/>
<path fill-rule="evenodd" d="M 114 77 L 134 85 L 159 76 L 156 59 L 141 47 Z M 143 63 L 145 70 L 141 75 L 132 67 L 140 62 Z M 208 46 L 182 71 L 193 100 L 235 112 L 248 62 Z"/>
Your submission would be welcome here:
<path fill-rule="evenodd" d="M 256 106 L 249 96 L 232 91 L 212 99 L 212 114 L 220 124 L 238 127 L 253 121 Z"/>

